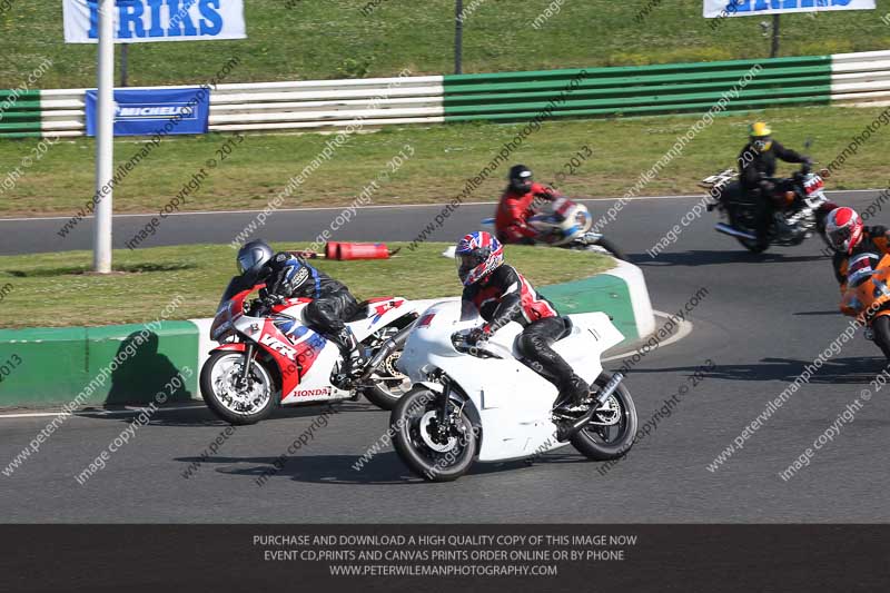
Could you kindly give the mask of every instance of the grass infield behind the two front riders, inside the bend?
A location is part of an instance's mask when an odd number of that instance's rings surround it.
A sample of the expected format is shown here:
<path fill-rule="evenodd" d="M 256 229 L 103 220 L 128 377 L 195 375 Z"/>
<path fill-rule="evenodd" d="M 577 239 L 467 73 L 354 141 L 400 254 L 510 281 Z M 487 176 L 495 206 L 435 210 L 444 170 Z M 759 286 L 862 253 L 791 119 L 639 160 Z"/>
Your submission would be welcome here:
<path fill-rule="evenodd" d="M 390 248 L 403 244 L 390 244 Z M 275 245 L 279 249 L 303 245 Z M 454 261 L 442 257 L 446 244 L 403 249 L 386 260 L 315 260 L 319 269 L 344 281 L 359 299 L 398 295 L 436 298 L 461 294 Z M 96 326 L 154 320 L 177 295 L 181 305 L 170 319 L 212 317 L 235 270 L 235 251 L 222 245 L 157 247 L 115 251 L 119 274 L 85 274 L 89 251 L 0 257 L 0 287 L 6 296 L 0 328 Z M 565 265 L 566 257 L 577 260 Z M 563 249 L 508 246 L 507 261 L 535 285 L 592 276 L 613 267 L 612 259 Z"/>

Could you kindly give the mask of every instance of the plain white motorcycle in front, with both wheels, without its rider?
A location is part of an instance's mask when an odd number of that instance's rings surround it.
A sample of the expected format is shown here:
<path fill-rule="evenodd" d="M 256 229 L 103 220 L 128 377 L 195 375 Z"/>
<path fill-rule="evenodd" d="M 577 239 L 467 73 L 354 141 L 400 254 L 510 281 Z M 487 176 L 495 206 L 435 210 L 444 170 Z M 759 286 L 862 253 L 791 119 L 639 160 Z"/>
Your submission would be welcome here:
<path fill-rule="evenodd" d="M 534 458 L 568 442 L 591 459 L 623 456 L 633 445 L 636 409 L 622 375 L 600 357 L 623 336 L 603 313 L 568 316 L 571 332 L 553 348 L 593 385 L 586 413 L 553 411 L 558 391 L 516 349 L 522 327 L 471 345 L 481 319 L 462 319 L 459 302 L 442 302 L 416 322 L 398 368 L 413 383 L 392 412 L 395 448 L 417 475 L 447 482 L 473 462 Z"/>

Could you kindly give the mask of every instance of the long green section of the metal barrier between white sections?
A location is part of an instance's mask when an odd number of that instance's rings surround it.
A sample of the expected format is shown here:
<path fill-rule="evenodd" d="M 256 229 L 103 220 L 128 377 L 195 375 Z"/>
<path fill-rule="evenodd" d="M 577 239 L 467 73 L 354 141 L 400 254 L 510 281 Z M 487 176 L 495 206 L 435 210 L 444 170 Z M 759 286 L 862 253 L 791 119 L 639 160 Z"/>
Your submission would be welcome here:
<path fill-rule="evenodd" d="M 735 88 L 734 111 L 830 102 L 831 57 L 453 75 L 444 85 L 445 121 L 704 112 Z"/>

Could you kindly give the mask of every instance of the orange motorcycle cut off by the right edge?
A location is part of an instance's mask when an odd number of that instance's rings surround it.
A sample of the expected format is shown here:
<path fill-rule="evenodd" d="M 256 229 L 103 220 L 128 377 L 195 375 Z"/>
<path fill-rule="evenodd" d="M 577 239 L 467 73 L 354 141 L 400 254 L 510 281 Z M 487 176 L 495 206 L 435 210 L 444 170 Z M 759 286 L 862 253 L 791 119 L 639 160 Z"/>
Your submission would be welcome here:
<path fill-rule="evenodd" d="M 841 313 L 856 317 L 866 327 L 866 338 L 890 362 L 890 255 L 859 254 L 849 259 L 847 269 Z"/>

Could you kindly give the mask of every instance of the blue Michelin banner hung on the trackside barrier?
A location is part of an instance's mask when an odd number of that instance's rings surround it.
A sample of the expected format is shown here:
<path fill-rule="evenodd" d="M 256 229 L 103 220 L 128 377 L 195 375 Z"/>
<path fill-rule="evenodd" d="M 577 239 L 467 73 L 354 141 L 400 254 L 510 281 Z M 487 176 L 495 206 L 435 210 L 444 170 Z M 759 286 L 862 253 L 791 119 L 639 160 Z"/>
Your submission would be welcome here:
<path fill-rule="evenodd" d="M 96 90 L 87 91 L 87 136 L 96 136 Z M 207 134 L 210 89 L 115 89 L 115 136 Z"/>

